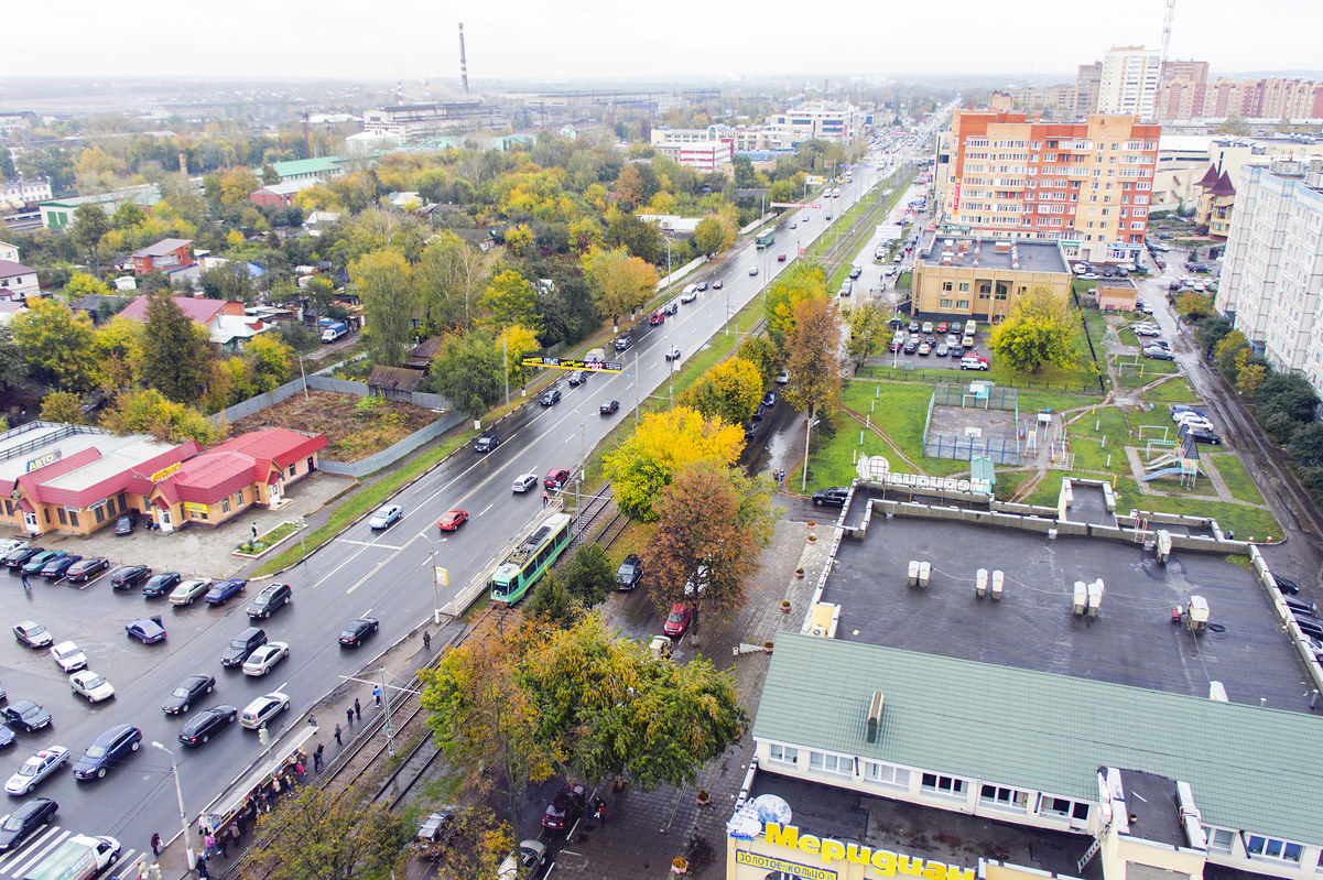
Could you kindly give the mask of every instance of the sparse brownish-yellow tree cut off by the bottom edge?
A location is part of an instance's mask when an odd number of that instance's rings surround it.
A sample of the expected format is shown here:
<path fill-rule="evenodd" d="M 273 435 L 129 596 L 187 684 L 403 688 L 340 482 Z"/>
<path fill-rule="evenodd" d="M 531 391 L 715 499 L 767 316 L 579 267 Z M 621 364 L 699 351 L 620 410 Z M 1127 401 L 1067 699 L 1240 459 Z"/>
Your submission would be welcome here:
<path fill-rule="evenodd" d="M 303 786 L 258 816 L 243 876 L 269 880 L 356 880 L 402 875 L 410 828 L 385 805 Z"/>

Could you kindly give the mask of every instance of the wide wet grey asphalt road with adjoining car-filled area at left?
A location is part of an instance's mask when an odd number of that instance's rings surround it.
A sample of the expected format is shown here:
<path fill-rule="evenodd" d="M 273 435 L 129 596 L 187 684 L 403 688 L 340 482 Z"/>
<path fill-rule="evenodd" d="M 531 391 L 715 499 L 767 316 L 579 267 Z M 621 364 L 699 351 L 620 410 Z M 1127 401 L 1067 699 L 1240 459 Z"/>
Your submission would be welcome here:
<path fill-rule="evenodd" d="M 831 213 L 839 217 L 876 180 L 876 169 L 856 169 L 855 183 L 841 187 L 841 197 L 823 204 L 830 204 Z M 4 675 L 0 684 L 9 699 L 36 700 L 54 719 L 45 730 L 19 734 L 17 744 L 0 756 L 0 775 L 7 777 L 28 754 L 48 745 L 66 746 L 74 758 L 114 724 L 134 724 L 144 734 L 143 748 L 102 781 L 75 783 L 65 770 L 37 787 L 36 795 L 61 805 L 57 823 L 17 855 L 0 859 L 0 880 L 17 876 L 70 832 L 108 834 L 126 848 L 136 850 L 146 848 L 152 832 L 159 831 L 165 839 L 173 836 L 179 830 L 179 809 L 169 758 L 151 748 L 151 741 L 175 752 L 191 819 L 262 753 L 257 733 L 238 724 L 206 745 L 183 746 L 177 741 L 179 728 L 201 707 L 192 707 L 184 716 L 161 712 L 163 700 L 179 682 L 196 674 L 216 676 L 216 692 L 202 707 L 224 703 L 242 709 L 262 693 L 277 689 L 288 693 L 291 711 L 273 726 L 273 742 L 279 744 L 282 734 L 302 724 L 319 699 L 359 675 L 373 656 L 431 617 L 434 562 L 450 572 L 450 586 L 439 590 L 435 599 L 445 605 L 475 577 L 483 577 L 511 540 L 524 535 L 541 511 L 541 490 L 516 495 L 511 491 L 515 476 L 544 475 L 552 467 L 569 467 L 577 474 L 586 453 L 619 419 L 632 417 L 639 397 L 654 389 L 665 394 L 667 372 L 672 367 L 664 359 L 665 349 L 679 347 L 683 367 L 721 332 L 728 314 L 759 295 L 795 259 L 798 246 L 807 246 L 820 233 L 827 212 L 826 206 L 799 210 L 786 218 L 771 249 L 759 251 L 750 242 L 716 261 L 695 281 L 721 278 L 724 288 L 709 288 L 662 326 L 650 327 L 642 318 L 631 331 L 634 347 L 620 357 L 623 372 L 593 376 L 578 388 L 562 382 L 564 400 L 550 408 L 541 408 L 531 398 L 505 421 L 503 442 L 495 451 L 451 457 L 393 499 L 404 506 L 401 521 L 384 532 L 373 532 L 366 521 L 360 521 L 288 572 L 282 580 L 294 586 L 294 602 L 262 626 L 269 639 L 290 643 L 290 658 L 266 678 L 251 679 L 220 664 L 228 642 L 249 626 L 243 609 L 261 585 L 228 607 L 198 603 L 175 609 L 164 599 L 144 601 L 138 592 L 115 594 L 105 576 L 81 589 L 33 581 L 26 595 L 17 577 L 0 574 L 0 584 L 7 586 L 0 598 L 3 619 L 11 625 L 34 619 L 49 627 L 57 640 L 73 638 L 87 654 L 91 668 L 116 689 L 114 700 L 89 707 L 73 696 L 66 676 L 46 651 L 32 651 L 16 642 L 0 644 Z M 791 220 L 796 222 L 795 230 L 789 229 Z M 786 253 L 787 262 L 777 262 L 779 253 Z M 749 274 L 753 267 L 758 269 L 757 275 Z M 679 290 L 675 295 L 679 296 Z M 615 352 L 610 352 L 609 360 L 617 360 Z M 620 410 L 599 416 L 603 400 L 618 400 Z M 566 488 L 573 487 L 572 483 Z M 451 508 L 467 509 L 471 520 L 458 533 L 442 536 L 437 517 Z M 124 622 L 149 614 L 164 618 L 167 642 L 159 646 L 130 642 Z M 341 650 L 336 635 L 347 621 L 363 615 L 378 618 L 381 631 L 360 650 Z M 361 689 L 364 703 L 370 704 L 370 685 L 363 684 Z M 327 738 L 336 720 L 320 719 Z"/>

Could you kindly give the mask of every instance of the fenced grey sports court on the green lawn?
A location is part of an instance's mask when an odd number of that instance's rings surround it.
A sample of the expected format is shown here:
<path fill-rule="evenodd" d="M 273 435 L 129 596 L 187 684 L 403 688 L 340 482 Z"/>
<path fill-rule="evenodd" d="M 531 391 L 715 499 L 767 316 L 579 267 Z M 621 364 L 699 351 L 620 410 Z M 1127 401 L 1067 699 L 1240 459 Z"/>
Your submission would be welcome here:
<path fill-rule="evenodd" d="M 1023 447 L 1017 389 L 978 380 L 933 388 L 923 423 L 923 455 L 964 462 L 979 455 L 995 464 L 1017 466 Z"/>

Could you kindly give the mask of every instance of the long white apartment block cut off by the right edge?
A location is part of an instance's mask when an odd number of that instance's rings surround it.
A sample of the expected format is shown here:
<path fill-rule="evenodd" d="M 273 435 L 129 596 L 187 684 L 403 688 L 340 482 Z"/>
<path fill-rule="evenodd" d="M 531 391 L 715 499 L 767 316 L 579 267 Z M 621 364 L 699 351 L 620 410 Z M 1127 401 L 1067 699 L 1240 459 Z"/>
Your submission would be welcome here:
<path fill-rule="evenodd" d="M 1215 306 L 1323 394 L 1323 159 L 1245 165 Z"/>

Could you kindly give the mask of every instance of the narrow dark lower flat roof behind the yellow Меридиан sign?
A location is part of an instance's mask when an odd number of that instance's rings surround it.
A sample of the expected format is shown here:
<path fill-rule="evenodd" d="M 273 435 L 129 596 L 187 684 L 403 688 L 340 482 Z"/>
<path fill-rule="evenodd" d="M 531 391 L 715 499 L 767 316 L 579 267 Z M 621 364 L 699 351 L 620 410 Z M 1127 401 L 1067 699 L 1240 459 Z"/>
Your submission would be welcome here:
<path fill-rule="evenodd" d="M 792 811 L 790 823 L 798 826 L 800 834 L 863 843 L 962 868 L 976 868 L 983 858 L 1077 877 L 1080 856 L 1093 843 L 1089 835 L 994 822 L 761 769 L 754 775 L 749 798 L 759 794 L 783 798 Z M 1094 859 L 1084 876 L 1101 877 L 1099 865 L 1101 860 Z"/>

